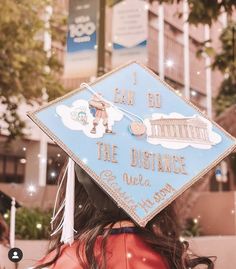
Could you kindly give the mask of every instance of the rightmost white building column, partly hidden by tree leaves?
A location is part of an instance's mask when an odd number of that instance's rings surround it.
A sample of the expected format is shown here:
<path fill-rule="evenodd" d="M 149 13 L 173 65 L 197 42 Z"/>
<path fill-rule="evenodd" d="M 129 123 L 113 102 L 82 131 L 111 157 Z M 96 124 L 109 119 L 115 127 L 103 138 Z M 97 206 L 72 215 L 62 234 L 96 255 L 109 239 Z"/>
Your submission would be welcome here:
<path fill-rule="evenodd" d="M 204 38 L 205 41 L 210 39 L 210 27 L 204 26 Z M 208 55 L 205 56 L 205 68 L 206 68 L 206 106 L 207 115 L 212 118 L 212 86 L 211 86 L 211 59 Z"/>

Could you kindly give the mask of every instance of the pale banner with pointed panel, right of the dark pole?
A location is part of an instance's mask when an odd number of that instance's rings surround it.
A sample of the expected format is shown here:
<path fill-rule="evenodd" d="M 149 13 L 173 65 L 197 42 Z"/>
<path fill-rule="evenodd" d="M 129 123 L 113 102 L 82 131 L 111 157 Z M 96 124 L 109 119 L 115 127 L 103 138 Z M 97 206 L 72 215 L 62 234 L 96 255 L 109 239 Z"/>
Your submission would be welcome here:
<path fill-rule="evenodd" d="M 113 8 L 112 67 L 130 60 L 147 63 L 148 3 L 125 0 Z"/>

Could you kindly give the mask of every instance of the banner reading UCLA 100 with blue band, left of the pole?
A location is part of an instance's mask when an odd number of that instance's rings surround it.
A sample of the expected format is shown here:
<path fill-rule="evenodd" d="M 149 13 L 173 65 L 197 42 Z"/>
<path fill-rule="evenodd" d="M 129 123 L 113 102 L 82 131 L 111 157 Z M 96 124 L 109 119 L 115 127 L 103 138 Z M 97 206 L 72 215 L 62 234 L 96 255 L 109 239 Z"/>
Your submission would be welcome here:
<path fill-rule="evenodd" d="M 97 0 L 70 0 L 66 78 L 88 77 L 97 68 Z"/>

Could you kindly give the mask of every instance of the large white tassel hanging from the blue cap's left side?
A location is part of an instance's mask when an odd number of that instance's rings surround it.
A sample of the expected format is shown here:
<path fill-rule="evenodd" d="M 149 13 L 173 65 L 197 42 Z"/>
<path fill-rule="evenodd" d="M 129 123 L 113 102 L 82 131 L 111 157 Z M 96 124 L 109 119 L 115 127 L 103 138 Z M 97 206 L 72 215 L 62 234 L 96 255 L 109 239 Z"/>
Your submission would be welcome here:
<path fill-rule="evenodd" d="M 61 242 L 71 245 L 74 242 L 74 201 L 75 201 L 75 170 L 74 161 L 69 158 L 65 194 L 65 208 L 62 224 Z"/>

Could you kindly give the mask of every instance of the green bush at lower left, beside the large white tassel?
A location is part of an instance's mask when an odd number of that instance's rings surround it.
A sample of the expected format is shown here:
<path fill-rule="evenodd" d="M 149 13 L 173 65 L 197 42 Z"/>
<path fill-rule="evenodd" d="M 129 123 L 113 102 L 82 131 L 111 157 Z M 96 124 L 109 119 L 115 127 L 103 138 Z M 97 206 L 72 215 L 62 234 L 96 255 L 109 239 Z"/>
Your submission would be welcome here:
<path fill-rule="evenodd" d="M 41 240 L 49 238 L 51 211 L 18 208 L 16 210 L 16 238 L 23 240 Z M 8 213 L 10 216 L 10 212 Z M 6 221 L 10 222 L 9 218 Z"/>

